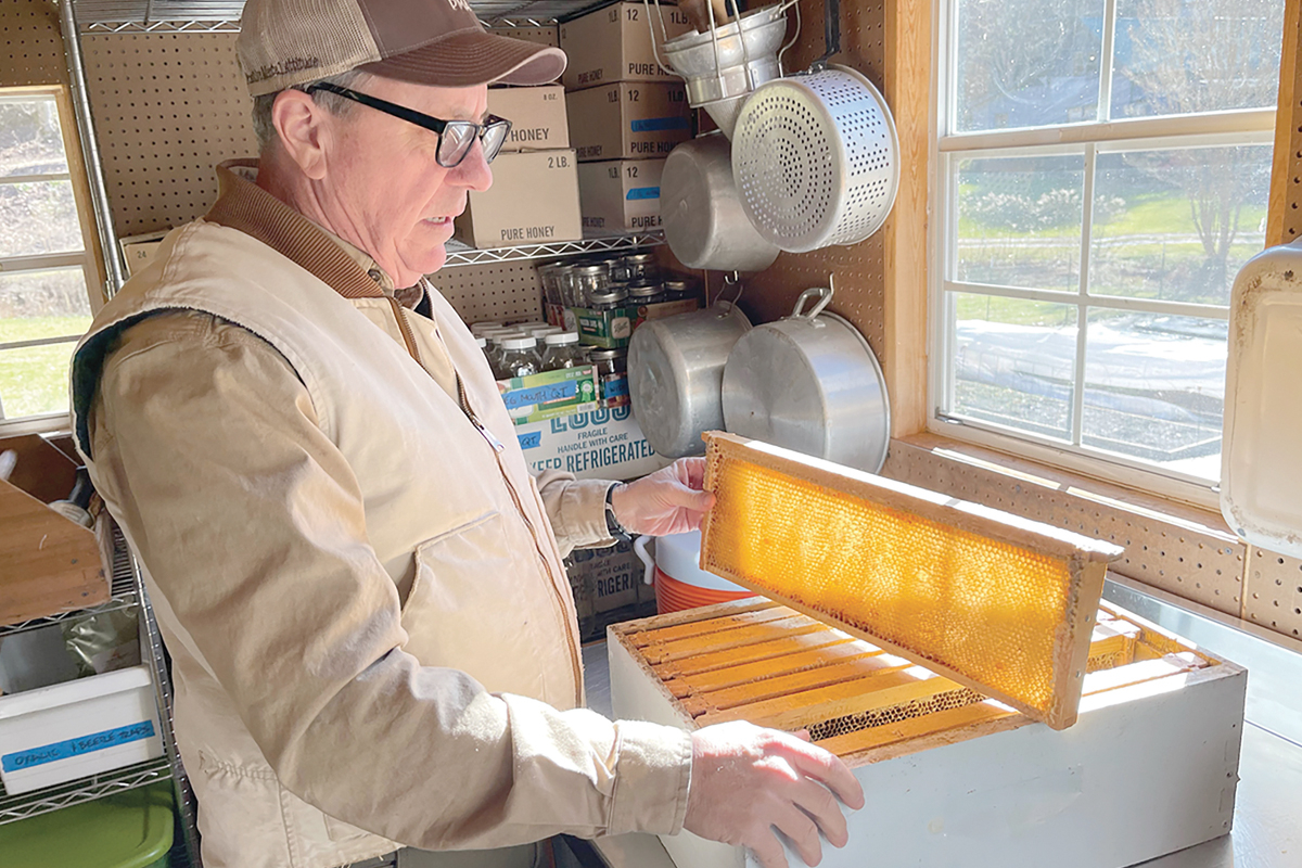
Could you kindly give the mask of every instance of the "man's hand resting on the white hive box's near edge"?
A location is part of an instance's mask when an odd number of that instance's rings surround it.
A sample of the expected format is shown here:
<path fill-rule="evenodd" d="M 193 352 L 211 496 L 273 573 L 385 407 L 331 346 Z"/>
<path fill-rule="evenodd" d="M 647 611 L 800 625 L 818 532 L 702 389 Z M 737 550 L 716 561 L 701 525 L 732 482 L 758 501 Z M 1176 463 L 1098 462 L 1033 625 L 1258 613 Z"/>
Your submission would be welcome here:
<path fill-rule="evenodd" d="M 764 868 L 786 868 L 773 828 L 809 865 L 823 859 L 820 830 L 844 847 L 849 838 L 837 798 L 857 811 L 863 787 L 845 763 L 807 740 L 742 721 L 691 735 L 691 793 L 682 828 L 747 847 Z"/>

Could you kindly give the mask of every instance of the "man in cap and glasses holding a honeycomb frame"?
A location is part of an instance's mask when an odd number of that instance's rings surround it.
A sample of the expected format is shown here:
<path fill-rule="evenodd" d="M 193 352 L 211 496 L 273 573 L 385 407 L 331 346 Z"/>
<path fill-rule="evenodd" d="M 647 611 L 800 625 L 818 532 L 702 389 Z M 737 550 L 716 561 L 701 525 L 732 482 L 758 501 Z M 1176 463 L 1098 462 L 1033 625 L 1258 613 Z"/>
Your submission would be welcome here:
<path fill-rule="evenodd" d="M 172 652 L 208 868 L 559 832 L 685 828 L 772 867 L 775 828 L 810 864 L 820 829 L 844 845 L 833 791 L 862 793 L 825 751 L 579 708 L 561 557 L 613 524 L 697 526 L 700 463 L 535 483 L 423 282 L 491 182 L 487 83 L 551 81 L 564 55 L 488 35 L 464 0 L 250 0 L 240 55 L 256 169 L 220 169 L 73 363 L 78 448 Z"/>

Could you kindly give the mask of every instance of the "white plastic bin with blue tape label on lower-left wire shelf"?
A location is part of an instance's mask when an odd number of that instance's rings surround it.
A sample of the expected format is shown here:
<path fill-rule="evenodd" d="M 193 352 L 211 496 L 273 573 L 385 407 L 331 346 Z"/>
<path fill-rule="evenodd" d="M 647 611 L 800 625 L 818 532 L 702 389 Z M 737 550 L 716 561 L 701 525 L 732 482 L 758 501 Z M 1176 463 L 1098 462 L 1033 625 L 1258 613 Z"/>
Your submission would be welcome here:
<path fill-rule="evenodd" d="M 9 795 L 159 756 L 146 666 L 0 696 L 0 781 Z"/>

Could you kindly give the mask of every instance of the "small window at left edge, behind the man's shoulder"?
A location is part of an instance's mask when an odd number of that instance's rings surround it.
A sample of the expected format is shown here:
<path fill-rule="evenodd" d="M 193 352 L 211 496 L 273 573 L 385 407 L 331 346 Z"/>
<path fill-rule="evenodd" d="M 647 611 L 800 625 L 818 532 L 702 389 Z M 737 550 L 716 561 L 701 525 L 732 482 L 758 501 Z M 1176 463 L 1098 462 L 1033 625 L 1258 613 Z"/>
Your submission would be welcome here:
<path fill-rule="evenodd" d="M 98 285 L 53 88 L 0 88 L 0 424 L 68 413 Z"/>

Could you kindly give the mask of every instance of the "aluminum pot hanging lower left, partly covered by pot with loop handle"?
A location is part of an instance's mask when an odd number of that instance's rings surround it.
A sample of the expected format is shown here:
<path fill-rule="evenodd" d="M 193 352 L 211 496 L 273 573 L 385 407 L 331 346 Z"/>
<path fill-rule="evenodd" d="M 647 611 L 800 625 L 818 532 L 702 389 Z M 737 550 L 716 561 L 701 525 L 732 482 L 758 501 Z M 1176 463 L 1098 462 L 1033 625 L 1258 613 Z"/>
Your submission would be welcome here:
<path fill-rule="evenodd" d="M 724 423 L 724 362 L 750 320 L 736 305 L 642 323 L 629 342 L 629 393 L 647 442 L 661 455 L 704 452 L 702 431 Z"/>

